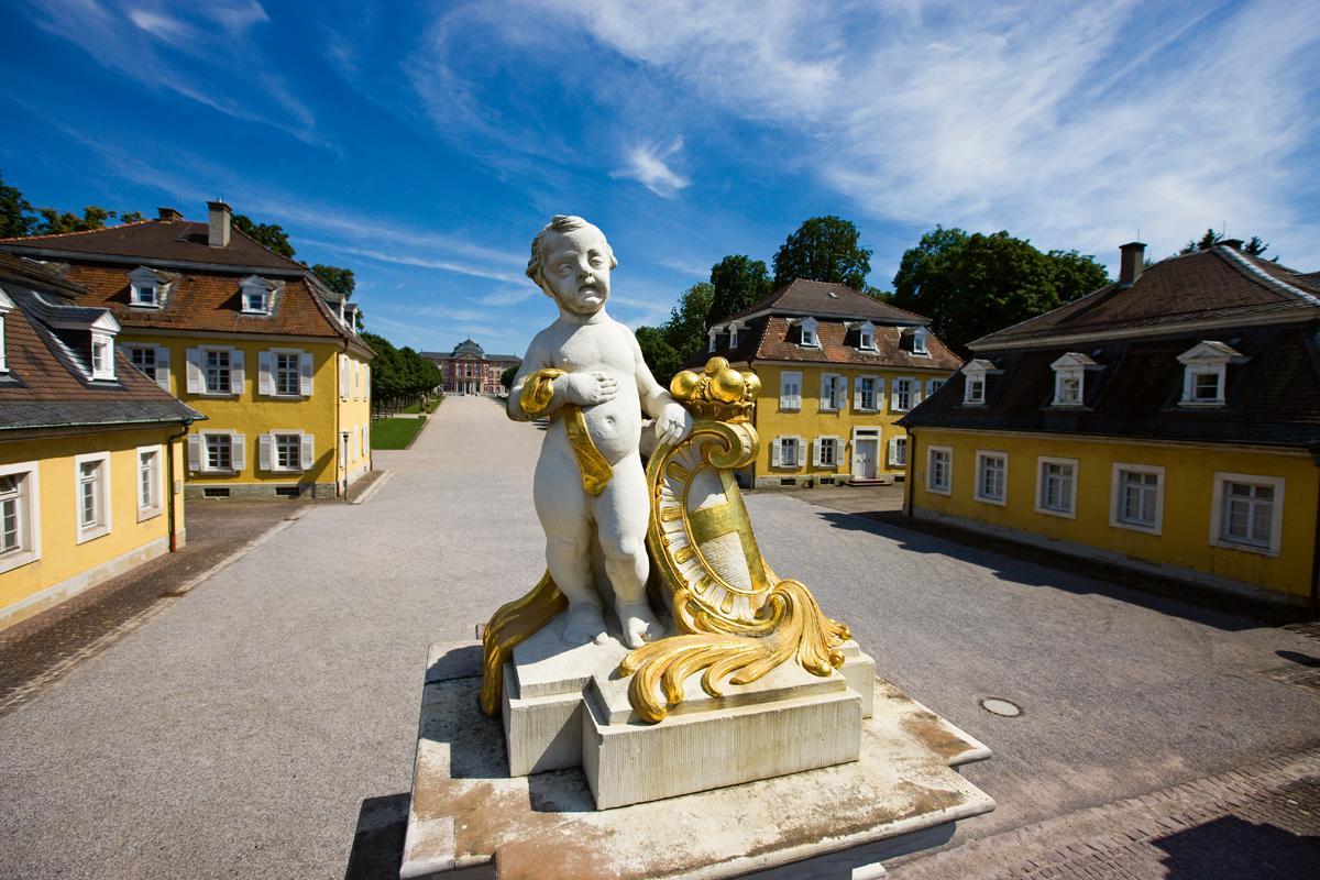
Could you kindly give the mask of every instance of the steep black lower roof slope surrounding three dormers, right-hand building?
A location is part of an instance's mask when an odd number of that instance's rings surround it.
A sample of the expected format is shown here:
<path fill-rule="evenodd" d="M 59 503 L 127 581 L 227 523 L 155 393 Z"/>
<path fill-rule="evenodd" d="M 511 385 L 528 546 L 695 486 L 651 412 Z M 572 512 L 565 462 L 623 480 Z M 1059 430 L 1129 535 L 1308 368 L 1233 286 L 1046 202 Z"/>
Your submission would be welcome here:
<path fill-rule="evenodd" d="M 1320 322 L 1242 327 L 1209 336 L 1247 356 L 1228 367 L 1226 405 L 1179 406 L 1177 356 L 1205 334 L 1129 338 L 1084 346 L 1008 348 L 991 355 L 986 404 L 966 406 L 966 377 L 956 375 L 903 417 L 904 427 L 1044 431 L 1272 446 L 1320 445 Z M 1080 351 L 1101 365 L 1086 371 L 1082 408 L 1055 408 L 1049 364 Z"/>

